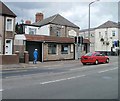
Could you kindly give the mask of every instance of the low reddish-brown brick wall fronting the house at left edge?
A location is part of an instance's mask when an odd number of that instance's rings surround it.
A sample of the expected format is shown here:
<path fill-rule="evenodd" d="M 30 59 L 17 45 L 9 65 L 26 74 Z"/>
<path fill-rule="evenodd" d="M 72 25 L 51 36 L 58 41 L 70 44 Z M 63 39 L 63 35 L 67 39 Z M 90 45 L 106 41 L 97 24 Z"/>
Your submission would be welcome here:
<path fill-rule="evenodd" d="M 0 55 L 0 65 L 4 64 L 18 64 L 19 56 L 16 54 L 13 55 Z"/>

